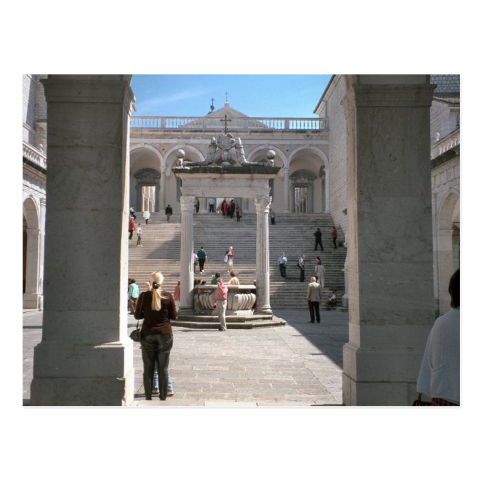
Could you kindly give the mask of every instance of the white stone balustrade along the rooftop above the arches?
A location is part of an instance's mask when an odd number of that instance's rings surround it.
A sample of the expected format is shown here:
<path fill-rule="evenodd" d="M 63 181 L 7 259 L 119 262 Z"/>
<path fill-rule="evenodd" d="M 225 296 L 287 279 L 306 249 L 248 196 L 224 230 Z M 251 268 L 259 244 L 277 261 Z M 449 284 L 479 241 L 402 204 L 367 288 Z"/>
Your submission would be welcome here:
<path fill-rule="evenodd" d="M 221 131 L 220 117 L 131 117 L 132 129 Z M 327 118 L 242 117 L 228 122 L 229 131 L 326 131 Z"/>

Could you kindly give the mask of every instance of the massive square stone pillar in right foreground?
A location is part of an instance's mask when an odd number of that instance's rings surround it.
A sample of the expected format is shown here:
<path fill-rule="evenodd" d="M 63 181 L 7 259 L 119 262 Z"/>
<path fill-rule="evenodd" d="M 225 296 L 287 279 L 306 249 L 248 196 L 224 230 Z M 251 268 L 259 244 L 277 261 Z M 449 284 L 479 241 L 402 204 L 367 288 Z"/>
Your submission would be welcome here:
<path fill-rule="evenodd" d="M 343 401 L 407 406 L 434 321 L 427 76 L 357 76 L 347 120 Z M 396 82 L 396 81 L 395 81 Z M 353 85 L 354 84 L 354 85 Z"/>

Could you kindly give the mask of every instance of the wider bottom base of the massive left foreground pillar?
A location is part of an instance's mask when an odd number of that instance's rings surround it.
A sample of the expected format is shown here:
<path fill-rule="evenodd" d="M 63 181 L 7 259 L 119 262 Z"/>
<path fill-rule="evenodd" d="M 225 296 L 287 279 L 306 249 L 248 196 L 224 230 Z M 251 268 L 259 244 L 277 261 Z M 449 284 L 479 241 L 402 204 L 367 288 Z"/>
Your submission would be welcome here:
<path fill-rule="evenodd" d="M 30 405 L 128 406 L 134 401 L 132 357 L 130 340 L 96 346 L 41 342 L 34 349 Z"/>

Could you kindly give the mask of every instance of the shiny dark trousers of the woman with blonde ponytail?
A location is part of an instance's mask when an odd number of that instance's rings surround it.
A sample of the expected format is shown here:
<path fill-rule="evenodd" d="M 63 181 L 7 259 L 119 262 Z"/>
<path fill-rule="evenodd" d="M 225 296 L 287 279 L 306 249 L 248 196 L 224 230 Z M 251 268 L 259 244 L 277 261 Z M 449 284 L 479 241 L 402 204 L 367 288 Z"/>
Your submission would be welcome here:
<path fill-rule="evenodd" d="M 152 382 L 156 364 L 160 375 L 159 398 L 165 400 L 167 397 L 167 377 L 172 341 L 173 337 L 169 334 L 145 335 L 140 339 L 140 346 L 143 349 L 143 381 L 146 400 L 152 399 Z"/>

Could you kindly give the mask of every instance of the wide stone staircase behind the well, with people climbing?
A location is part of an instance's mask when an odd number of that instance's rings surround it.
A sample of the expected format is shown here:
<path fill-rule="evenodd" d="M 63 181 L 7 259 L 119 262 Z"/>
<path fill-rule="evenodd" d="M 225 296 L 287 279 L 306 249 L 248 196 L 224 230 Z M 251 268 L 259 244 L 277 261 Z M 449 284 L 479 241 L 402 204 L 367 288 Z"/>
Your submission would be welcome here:
<path fill-rule="evenodd" d="M 164 286 L 167 291 L 174 291 L 180 279 L 180 214 L 171 216 L 166 221 L 163 213 L 152 213 L 149 224 L 137 214 L 136 224 L 143 228 L 143 247 L 136 247 L 136 234 L 129 241 L 129 277 L 134 277 L 141 291 L 144 282 L 149 280 L 152 271 L 162 271 L 165 276 Z M 273 309 L 306 308 L 306 286 L 309 277 L 315 271 L 315 258 L 319 256 L 325 266 L 325 288 L 322 307 L 331 289 L 337 290 L 338 305 L 344 293 L 344 273 L 346 248 L 333 248 L 331 226 L 333 220 L 329 214 L 277 213 L 276 224 L 269 225 L 270 258 L 270 303 Z M 315 236 L 319 227 L 323 234 L 324 251 L 314 252 Z M 338 242 L 344 241 L 341 229 L 338 229 Z M 211 281 L 216 271 L 224 280 L 229 280 L 224 252 L 232 246 L 235 253 L 234 271 L 241 284 L 252 284 L 255 280 L 256 260 L 256 215 L 244 213 L 240 222 L 236 218 L 224 218 L 218 213 L 193 214 L 193 242 L 197 252 L 201 246 L 207 251 L 208 262 L 205 273 L 200 275 L 198 266 L 194 277 L 197 280 Z M 288 259 L 286 278 L 280 276 L 277 258 L 284 253 Z M 297 260 L 306 256 L 305 281 L 300 283 L 300 271 Z"/>

